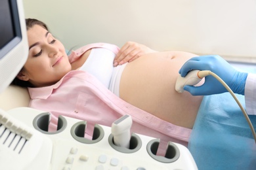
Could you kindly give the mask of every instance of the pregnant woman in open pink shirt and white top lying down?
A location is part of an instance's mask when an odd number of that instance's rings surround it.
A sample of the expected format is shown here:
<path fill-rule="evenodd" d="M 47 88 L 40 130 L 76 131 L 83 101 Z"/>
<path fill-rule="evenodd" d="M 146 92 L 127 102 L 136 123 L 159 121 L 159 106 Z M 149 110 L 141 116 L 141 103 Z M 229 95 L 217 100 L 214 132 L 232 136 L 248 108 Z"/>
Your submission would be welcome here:
<path fill-rule="evenodd" d="M 177 93 L 175 82 L 182 65 L 196 55 L 127 42 L 121 50 L 89 44 L 67 56 L 47 25 L 35 19 L 26 24 L 29 56 L 13 84 L 28 87 L 30 107 L 51 112 L 50 130 L 59 115 L 70 116 L 86 120 L 85 136 L 91 137 L 95 124 L 111 126 L 130 114 L 133 132 L 187 143 L 203 97 Z M 134 61 L 123 62 L 131 56 Z"/>

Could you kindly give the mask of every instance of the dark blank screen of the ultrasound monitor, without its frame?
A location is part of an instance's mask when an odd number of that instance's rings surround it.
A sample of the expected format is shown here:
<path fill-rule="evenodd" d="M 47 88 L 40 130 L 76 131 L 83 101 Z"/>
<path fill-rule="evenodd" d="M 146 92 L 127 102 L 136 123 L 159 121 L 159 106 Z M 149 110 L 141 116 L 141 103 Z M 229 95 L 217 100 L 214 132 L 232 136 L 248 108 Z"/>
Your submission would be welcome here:
<path fill-rule="evenodd" d="M 14 36 L 14 27 L 11 18 L 11 5 L 9 0 L 0 0 L 0 50 L 10 42 Z"/>

